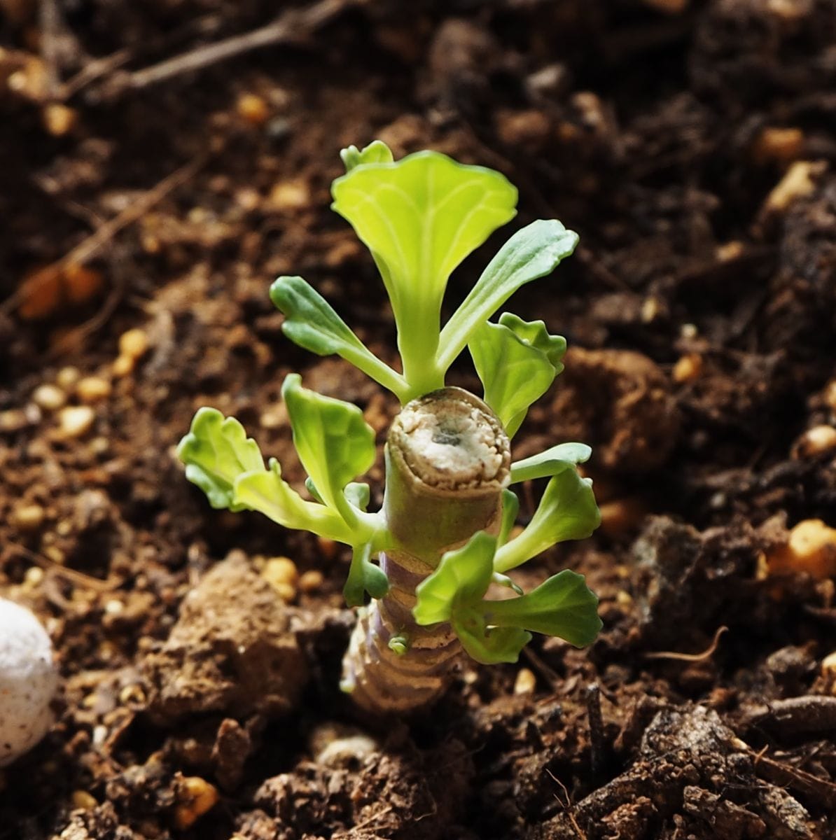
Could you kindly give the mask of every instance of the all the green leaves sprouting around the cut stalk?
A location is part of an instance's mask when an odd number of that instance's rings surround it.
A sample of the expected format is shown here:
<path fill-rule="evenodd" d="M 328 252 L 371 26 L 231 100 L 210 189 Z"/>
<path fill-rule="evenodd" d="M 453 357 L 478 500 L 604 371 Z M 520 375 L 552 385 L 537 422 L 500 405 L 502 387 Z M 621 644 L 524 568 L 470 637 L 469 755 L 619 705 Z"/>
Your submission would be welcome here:
<path fill-rule="evenodd" d="M 402 370 L 366 348 L 299 276 L 281 276 L 271 286 L 271 300 L 285 315 L 283 332 L 313 353 L 339 355 L 402 403 L 443 387 L 450 365 L 467 348 L 485 402 L 513 436 L 528 408 L 563 369 L 565 339 L 549 335 L 542 321 L 525 322 L 510 312 L 496 323 L 489 318 L 514 291 L 548 275 L 570 255 L 577 235 L 560 222 L 544 220 L 513 234 L 442 328 L 451 273 L 513 218 L 516 189 L 498 172 L 436 152 L 395 161 L 379 141 L 363 150 L 351 146 L 341 156 L 346 173 L 334 181 L 332 206 L 370 249 L 386 286 Z M 234 417 L 213 408 L 197 412 L 177 450 L 188 480 L 213 507 L 258 511 L 286 528 L 350 545 L 348 603 L 360 605 L 365 593 L 385 596 L 388 581 L 374 559 L 398 546 L 382 513 L 366 510 L 369 486 L 357 481 L 374 462 L 375 433 L 358 407 L 309 391 L 297 374 L 287 376 L 281 391 L 310 499 L 282 477 L 276 459 L 265 463 L 258 444 Z M 584 444 L 560 444 L 513 464 L 512 483 L 549 479 L 533 519 L 509 539 L 518 500 L 505 491 L 498 536 L 478 533 L 464 548 L 444 555 L 418 588 L 416 620 L 451 622 L 465 649 L 481 662 L 513 661 L 531 631 L 578 645 L 591 642 L 600 627 L 597 599 L 580 575 L 561 572 L 523 595 L 505 574 L 549 546 L 586 537 L 597 527 L 591 482 L 576 470 L 589 454 Z M 487 600 L 492 582 L 512 586 L 518 597 Z"/>

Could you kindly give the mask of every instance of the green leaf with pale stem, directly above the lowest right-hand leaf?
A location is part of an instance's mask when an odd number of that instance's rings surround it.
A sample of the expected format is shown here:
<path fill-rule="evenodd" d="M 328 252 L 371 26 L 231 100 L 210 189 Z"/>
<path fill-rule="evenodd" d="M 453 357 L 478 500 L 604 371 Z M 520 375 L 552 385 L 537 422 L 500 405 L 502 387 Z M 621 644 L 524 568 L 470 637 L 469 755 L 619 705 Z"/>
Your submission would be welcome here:
<path fill-rule="evenodd" d="M 523 533 L 497 551 L 494 569 L 507 572 L 567 539 L 583 539 L 601 523 L 592 480 L 562 470 L 546 486 L 537 511 Z"/>

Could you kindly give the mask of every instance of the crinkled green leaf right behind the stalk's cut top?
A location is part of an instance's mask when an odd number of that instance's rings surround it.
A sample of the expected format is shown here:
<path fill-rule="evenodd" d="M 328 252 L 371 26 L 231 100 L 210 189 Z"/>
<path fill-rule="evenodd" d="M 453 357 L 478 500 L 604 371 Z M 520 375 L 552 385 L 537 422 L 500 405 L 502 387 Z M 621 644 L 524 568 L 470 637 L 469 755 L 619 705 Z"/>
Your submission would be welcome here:
<path fill-rule="evenodd" d="M 485 388 L 485 402 L 497 413 L 509 438 L 517 433 L 528 407 L 563 370 L 560 358 L 565 347 L 565 339 L 549 335 L 542 321 L 526 323 L 509 313 L 502 315 L 500 323 L 486 321 L 471 334 L 468 348 Z"/>

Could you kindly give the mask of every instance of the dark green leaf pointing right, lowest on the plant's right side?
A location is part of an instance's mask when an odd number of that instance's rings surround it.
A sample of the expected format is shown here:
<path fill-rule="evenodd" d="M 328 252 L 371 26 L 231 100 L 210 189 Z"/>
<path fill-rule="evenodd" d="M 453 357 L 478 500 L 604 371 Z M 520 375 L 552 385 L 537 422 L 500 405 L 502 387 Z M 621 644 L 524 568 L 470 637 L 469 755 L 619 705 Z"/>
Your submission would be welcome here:
<path fill-rule="evenodd" d="M 583 575 L 568 569 L 550 577 L 528 595 L 484 604 L 488 624 L 558 636 L 576 648 L 592 644 L 602 627 L 597 597 Z"/>

